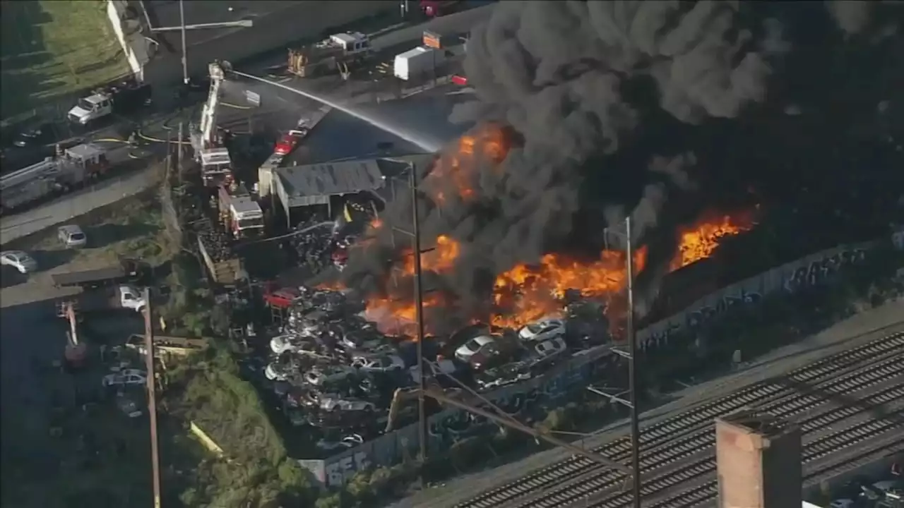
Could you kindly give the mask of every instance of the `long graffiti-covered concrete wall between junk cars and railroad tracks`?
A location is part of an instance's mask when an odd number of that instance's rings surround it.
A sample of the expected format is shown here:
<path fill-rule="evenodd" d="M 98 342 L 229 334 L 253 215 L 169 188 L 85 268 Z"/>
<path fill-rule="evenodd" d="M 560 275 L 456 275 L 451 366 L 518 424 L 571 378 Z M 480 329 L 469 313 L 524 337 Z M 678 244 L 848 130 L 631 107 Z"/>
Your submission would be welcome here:
<path fill-rule="evenodd" d="M 673 334 L 705 325 L 708 320 L 732 306 L 756 304 L 762 296 L 770 293 L 793 293 L 803 287 L 829 282 L 838 269 L 861 262 L 872 245 L 873 242 L 866 242 L 826 249 L 724 287 L 701 298 L 683 312 L 639 331 L 638 343 L 640 347 L 667 343 Z M 608 346 L 582 351 L 575 354 L 570 362 L 557 366 L 540 378 L 506 386 L 486 394 L 486 397 L 511 414 L 517 414 L 536 402 L 565 400 L 576 387 L 586 386 L 589 379 L 605 372 L 613 356 Z M 480 419 L 463 418 L 465 416 L 464 411 L 447 409 L 430 417 L 428 428 L 431 447 L 447 447 L 457 438 L 483 430 L 494 431 L 494 424 Z M 325 485 L 335 487 L 369 466 L 391 466 L 406 456 L 415 456 L 417 445 L 417 425 L 410 425 L 323 461 L 299 463 L 306 466 Z"/>

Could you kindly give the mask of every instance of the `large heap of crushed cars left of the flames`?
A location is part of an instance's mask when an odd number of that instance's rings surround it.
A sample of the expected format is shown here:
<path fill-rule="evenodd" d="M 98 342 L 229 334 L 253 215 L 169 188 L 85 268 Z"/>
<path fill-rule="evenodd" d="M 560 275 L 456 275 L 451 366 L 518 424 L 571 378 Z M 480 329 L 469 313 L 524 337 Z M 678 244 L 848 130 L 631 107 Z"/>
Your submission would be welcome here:
<path fill-rule="evenodd" d="M 342 292 L 299 287 L 270 340 L 264 375 L 293 425 L 319 429 L 325 452 L 379 434 L 392 391 L 412 382 L 391 339 L 362 311 Z"/>

